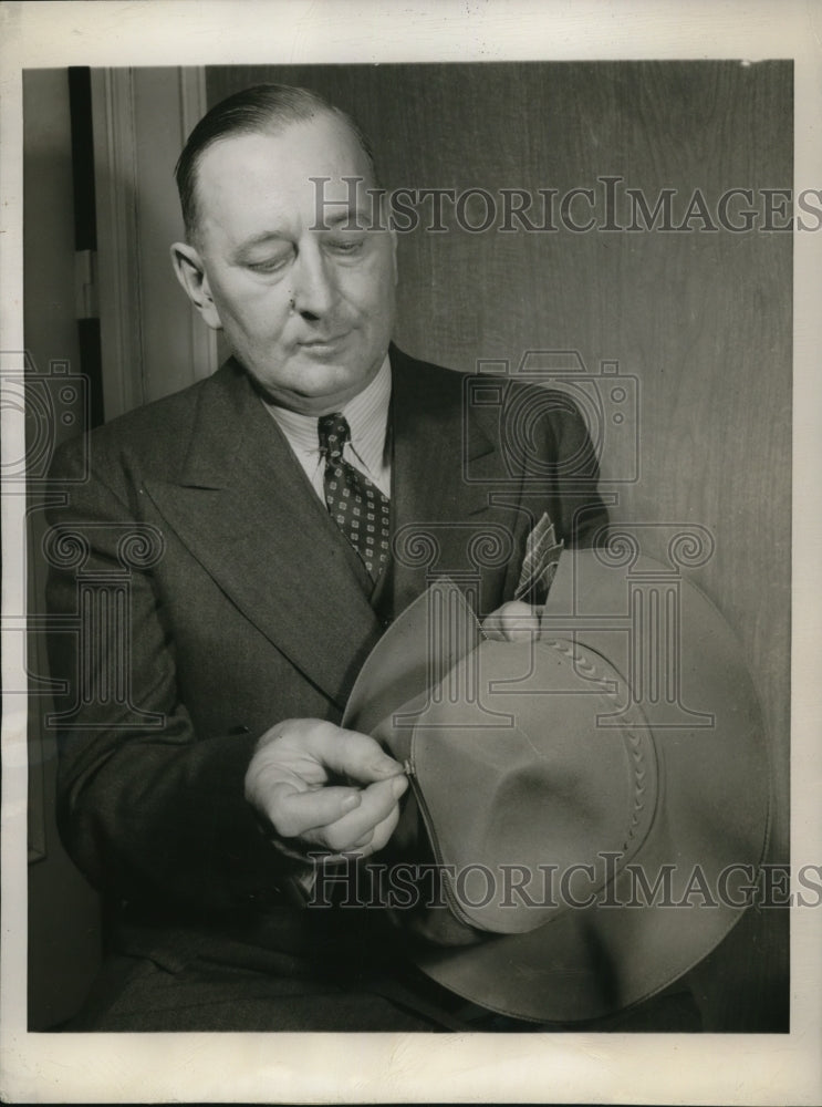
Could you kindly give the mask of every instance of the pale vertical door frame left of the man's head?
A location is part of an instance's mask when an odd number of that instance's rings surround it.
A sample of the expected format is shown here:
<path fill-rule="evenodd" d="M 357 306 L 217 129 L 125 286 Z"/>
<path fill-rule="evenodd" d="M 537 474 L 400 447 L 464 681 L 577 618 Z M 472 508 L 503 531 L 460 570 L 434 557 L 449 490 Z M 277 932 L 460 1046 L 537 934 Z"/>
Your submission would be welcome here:
<path fill-rule="evenodd" d="M 92 70 L 106 421 L 217 368 L 215 332 L 184 302 L 168 260 L 183 235 L 171 169 L 206 110 L 204 66 Z"/>

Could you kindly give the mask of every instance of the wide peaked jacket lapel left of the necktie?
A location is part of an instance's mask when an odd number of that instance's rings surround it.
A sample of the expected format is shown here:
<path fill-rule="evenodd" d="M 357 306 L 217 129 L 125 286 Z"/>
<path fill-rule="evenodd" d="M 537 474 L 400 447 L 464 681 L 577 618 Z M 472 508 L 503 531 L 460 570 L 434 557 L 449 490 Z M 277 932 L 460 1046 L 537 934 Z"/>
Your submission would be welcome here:
<path fill-rule="evenodd" d="M 204 386 L 179 478 L 146 490 L 242 614 L 343 706 L 382 628 L 356 555 L 237 366 Z"/>

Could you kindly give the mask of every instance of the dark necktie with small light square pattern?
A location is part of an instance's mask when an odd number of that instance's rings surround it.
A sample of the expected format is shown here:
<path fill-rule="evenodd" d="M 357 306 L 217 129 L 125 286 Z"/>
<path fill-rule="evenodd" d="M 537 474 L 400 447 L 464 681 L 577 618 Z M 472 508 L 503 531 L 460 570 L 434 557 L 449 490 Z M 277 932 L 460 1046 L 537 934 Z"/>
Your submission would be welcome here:
<path fill-rule="evenodd" d="M 329 514 L 360 555 L 372 580 L 376 581 L 388 563 L 388 498 L 363 473 L 343 461 L 345 443 L 351 438 L 344 415 L 334 412 L 321 416 L 318 433 L 320 453 L 325 458 Z"/>

